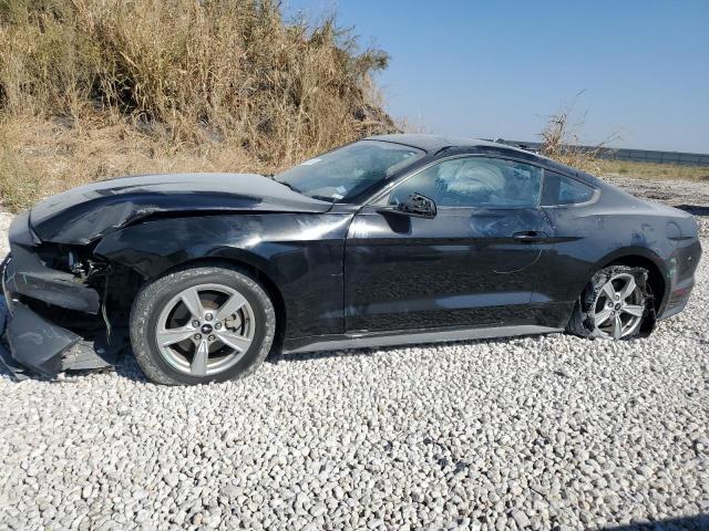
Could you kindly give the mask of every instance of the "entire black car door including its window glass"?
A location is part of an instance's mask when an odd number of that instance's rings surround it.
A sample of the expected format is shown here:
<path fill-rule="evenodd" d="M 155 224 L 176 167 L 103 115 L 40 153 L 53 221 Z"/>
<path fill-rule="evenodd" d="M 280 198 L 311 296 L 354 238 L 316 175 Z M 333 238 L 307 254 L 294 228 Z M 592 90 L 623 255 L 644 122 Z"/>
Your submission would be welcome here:
<path fill-rule="evenodd" d="M 541 188 L 541 168 L 456 157 L 362 208 L 346 242 L 347 331 L 534 322 L 528 303 L 552 230 Z M 382 210 L 413 192 L 436 202 L 435 218 Z"/>

